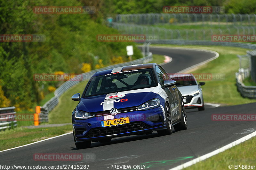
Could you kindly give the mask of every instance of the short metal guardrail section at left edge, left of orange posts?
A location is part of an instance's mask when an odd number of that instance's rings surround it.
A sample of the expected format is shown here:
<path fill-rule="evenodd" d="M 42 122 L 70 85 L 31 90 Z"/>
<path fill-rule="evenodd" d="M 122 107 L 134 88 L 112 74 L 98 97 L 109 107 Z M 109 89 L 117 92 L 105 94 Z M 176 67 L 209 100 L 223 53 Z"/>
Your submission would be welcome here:
<path fill-rule="evenodd" d="M 0 108 L 0 130 L 17 126 L 15 107 Z"/>

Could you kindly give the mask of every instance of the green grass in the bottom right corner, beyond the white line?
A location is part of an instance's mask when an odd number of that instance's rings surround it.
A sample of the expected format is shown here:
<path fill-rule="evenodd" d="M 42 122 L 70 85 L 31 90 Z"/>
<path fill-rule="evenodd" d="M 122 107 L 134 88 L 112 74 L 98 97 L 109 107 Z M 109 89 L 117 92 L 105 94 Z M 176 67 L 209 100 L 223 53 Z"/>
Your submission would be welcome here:
<path fill-rule="evenodd" d="M 256 137 L 253 137 L 241 144 L 238 144 L 224 152 L 212 156 L 195 165 L 184 168 L 184 170 L 212 170 L 212 169 L 235 169 L 235 165 L 255 165 Z M 256 165 L 255 165 L 256 166 Z M 236 168 L 237 169 L 237 168 Z M 240 167 L 240 169 L 242 169 Z M 255 169 L 255 168 L 254 168 Z"/>

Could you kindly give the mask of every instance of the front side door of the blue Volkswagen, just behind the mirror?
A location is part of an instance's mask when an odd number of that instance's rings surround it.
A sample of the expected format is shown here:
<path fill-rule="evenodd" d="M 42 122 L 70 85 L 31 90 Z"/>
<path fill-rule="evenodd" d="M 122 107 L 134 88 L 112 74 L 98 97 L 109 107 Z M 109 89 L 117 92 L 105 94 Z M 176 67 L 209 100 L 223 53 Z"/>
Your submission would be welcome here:
<path fill-rule="evenodd" d="M 163 72 L 162 69 L 160 69 L 160 66 L 156 66 L 156 73 L 157 73 L 157 77 L 160 81 L 161 87 L 164 87 L 164 80 L 168 80 L 170 79 L 168 74 L 165 72 Z M 170 108 L 170 112 L 172 115 L 172 122 L 177 120 L 177 115 L 175 113 L 173 113 L 173 108 L 175 106 L 175 101 L 176 101 L 176 97 L 175 97 L 175 92 L 173 91 L 172 87 L 167 87 L 164 89 L 164 91 L 166 92 L 168 99 L 169 99 L 169 108 Z"/>

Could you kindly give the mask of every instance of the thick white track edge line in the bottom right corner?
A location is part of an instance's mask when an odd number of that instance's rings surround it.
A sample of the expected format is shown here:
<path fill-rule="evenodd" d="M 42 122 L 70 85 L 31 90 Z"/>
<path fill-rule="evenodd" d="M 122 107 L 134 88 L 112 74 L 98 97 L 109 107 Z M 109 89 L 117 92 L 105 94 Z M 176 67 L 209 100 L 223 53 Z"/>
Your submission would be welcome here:
<path fill-rule="evenodd" d="M 190 160 L 190 161 L 188 161 L 188 162 L 186 162 L 184 164 L 181 164 L 181 165 L 176 166 L 176 167 L 174 167 L 172 169 L 169 169 L 169 170 L 180 170 L 180 169 L 186 168 L 188 166 L 194 165 L 194 164 L 196 164 L 196 163 L 198 163 L 198 162 L 200 162 L 200 161 L 202 161 L 204 159 L 210 158 L 213 155 L 216 155 L 216 154 L 218 154 L 220 152 L 223 152 L 223 151 L 225 151 L 225 150 L 227 150 L 227 149 L 229 149 L 229 148 L 231 148 L 231 147 L 233 147 L 233 146 L 235 146 L 237 144 L 240 144 L 240 143 L 242 143 L 242 142 L 244 142 L 244 141 L 246 141 L 246 140 L 248 140 L 248 139 L 250 139 L 250 138 L 252 138 L 254 136 L 256 136 L 256 131 L 252 132 L 251 134 L 249 134 L 249 135 L 247 135 L 245 137 L 242 137 L 242 138 L 240 138 L 240 139 L 238 139 L 238 140 L 236 140 L 236 141 L 234 141 L 234 142 L 232 142 L 230 144 L 227 144 L 226 146 L 223 146 L 220 149 L 217 149 L 215 151 L 207 153 L 207 154 L 205 154 L 203 156 L 200 156 L 199 158 Z"/>

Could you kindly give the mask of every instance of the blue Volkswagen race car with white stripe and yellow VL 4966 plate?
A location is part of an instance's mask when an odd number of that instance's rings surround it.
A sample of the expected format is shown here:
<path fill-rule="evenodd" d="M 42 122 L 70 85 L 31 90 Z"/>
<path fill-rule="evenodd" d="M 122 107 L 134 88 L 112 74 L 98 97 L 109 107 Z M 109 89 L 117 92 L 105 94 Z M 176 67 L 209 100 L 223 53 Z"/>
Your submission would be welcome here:
<path fill-rule="evenodd" d="M 156 63 L 137 64 L 96 72 L 72 112 L 77 149 L 113 137 L 159 135 L 187 129 L 182 95 L 166 71 Z"/>

